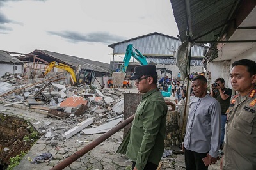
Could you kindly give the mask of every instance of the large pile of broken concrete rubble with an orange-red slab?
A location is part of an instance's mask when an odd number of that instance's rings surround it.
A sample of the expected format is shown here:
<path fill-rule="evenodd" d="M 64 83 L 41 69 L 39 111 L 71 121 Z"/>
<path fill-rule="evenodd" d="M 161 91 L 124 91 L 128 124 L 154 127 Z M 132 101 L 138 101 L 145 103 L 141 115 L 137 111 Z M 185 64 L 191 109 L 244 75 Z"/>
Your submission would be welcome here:
<path fill-rule="evenodd" d="M 53 78 L 53 79 L 52 79 Z M 4 106 L 22 105 L 56 121 L 56 129 L 40 127 L 44 139 L 67 140 L 77 133 L 98 134 L 115 127 L 124 112 L 124 93 L 93 85 L 65 86 L 61 79 L 27 79 L 20 75 L 0 77 L 0 102 Z M 40 122 L 37 122 L 40 124 Z"/>

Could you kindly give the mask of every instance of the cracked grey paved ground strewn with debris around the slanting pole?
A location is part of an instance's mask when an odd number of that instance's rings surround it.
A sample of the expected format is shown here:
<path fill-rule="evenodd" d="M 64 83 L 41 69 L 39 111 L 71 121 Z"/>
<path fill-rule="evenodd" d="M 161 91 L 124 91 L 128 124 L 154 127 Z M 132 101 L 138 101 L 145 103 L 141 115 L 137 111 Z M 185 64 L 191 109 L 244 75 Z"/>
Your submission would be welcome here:
<path fill-rule="evenodd" d="M 72 123 L 71 118 L 67 120 L 56 120 L 51 117 L 46 117 L 44 114 L 30 112 L 23 109 L 17 109 L 15 107 L 4 107 L 0 105 L 0 112 L 9 115 L 17 115 L 25 118 L 35 126 L 37 130 L 41 130 L 42 125 L 52 129 L 52 133 L 55 131 L 61 131 L 65 127 L 60 127 L 61 121 L 66 123 Z M 40 122 L 40 123 L 39 123 Z M 57 133 L 56 132 L 56 133 Z M 64 160 L 72 153 L 80 150 L 86 144 L 90 143 L 100 134 L 86 135 L 79 133 L 67 139 L 67 141 L 61 141 L 58 139 L 39 139 L 28 151 L 28 154 L 22 159 L 19 166 L 15 169 L 51 169 L 53 166 Z M 122 131 L 117 132 L 115 135 L 104 141 L 99 146 L 95 147 L 89 153 L 86 153 L 83 157 L 76 160 L 76 162 L 70 164 L 65 169 L 125 169 L 131 166 L 129 161 L 124 155 L 116 154 L 120 142 L 122 141 Z M 179 150 L 179 148 L 176 148 Z M 49 162 L 40 162 L 38 164 L 31 164 L 30 160 L 41 155 L 42 153 L 51 153 L 53 158 Z M 209 167 L 209 169 L 220 169 L 220 162 L 218 164 Z M 185 169 L 184 155 L 173 154 L 170 157 L 163 158 L 161 169 Z"/>

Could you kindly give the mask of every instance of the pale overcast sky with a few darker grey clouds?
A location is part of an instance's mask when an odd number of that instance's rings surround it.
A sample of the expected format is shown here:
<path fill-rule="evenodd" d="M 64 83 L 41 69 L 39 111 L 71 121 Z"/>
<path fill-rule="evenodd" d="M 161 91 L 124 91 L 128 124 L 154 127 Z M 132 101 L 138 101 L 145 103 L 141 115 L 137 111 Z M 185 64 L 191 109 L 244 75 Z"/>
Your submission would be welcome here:
<path fill-rule="evenodd" d="M 153 32 L 179 34 L 170 0 L 0 0 L 0 50 L 109 63 L 109 44 Z"/>

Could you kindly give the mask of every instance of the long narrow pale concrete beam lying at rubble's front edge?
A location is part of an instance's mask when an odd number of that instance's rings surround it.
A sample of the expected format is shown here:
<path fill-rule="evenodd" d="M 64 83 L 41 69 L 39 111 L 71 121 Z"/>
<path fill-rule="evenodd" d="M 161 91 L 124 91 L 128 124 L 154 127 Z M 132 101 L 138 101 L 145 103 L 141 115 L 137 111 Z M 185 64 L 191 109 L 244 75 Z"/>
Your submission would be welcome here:
<path fill-rule="evenodd" d="M 65 132 L 62 135 L 62 140 L 69 139 L 70 137 L 77 134 L 78 132 L 80 132 L 84 128 L 88 127 L 92 123 L 93 123 L 93 118 L 88 118 L 87 120 L 84 120 L 83 122 L 79 123 L 76 127 L 74 127 L 72 129 L 68 130 L 67 132 Z"/>

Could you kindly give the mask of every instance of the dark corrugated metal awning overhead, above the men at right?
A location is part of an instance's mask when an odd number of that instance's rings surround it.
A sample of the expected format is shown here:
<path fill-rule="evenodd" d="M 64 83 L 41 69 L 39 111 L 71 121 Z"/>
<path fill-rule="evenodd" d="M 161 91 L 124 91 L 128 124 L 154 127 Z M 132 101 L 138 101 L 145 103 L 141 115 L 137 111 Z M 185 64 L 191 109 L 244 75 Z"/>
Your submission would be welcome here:
<path fill-rule="evenodd" d="M 187 39 L 188 19 L 186 12 L 186 0 L 170 0 L 173 14 L 179 29 L 180 39 Z M 212 29 L 218 29 L 202 36 L 198 41 L 213 41 L 221 35 L 223 24 L 229 22 L 236 9 L 239 0 L 189 0 L 191 27 L 193 31 L 192 40 L 204 35 Z"/>

